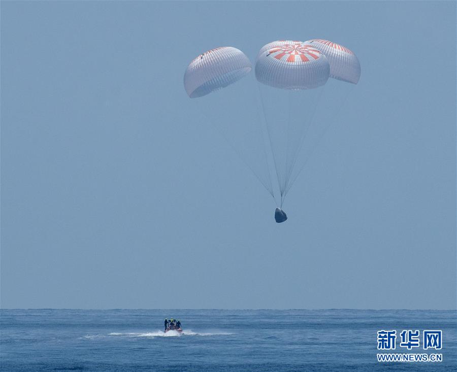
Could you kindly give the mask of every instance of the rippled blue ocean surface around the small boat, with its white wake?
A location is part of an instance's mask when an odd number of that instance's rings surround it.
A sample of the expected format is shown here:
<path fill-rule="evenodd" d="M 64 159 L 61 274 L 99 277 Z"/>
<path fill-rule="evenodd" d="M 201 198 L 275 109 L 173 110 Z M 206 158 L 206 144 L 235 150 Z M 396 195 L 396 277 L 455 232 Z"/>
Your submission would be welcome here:
<path fill-rule="evenodd" d="M 1 310 L 8 371 L 455 371 L 457 313 L 417 310 Z M 184 332 L 164 333 L 164 318 Z M 441 329 L 442 362 L 376 359 L 377 331 Z M 422 341 L 421 341 L 422 343 Z M 415 353 L 430 352 L 420 348 Z"/>

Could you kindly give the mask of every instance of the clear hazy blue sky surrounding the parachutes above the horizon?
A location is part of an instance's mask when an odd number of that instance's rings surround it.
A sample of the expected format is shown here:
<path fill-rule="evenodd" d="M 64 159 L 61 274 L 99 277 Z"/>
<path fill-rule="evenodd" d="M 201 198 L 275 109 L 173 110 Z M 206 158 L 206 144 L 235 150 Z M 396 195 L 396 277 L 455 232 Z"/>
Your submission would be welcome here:
<path fill-rule="evenodd" d="M 455 11 L 2 1 L 1 306 L 455 309 Z M 362 77 L 276 224 L 182 79 L 311 38 Z"/>

